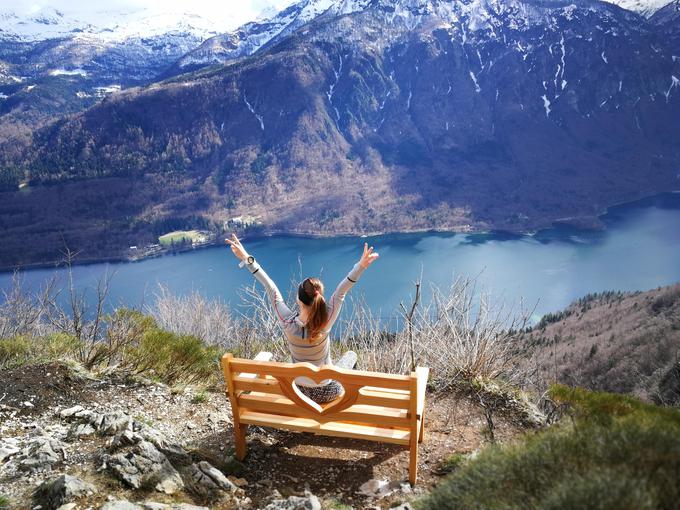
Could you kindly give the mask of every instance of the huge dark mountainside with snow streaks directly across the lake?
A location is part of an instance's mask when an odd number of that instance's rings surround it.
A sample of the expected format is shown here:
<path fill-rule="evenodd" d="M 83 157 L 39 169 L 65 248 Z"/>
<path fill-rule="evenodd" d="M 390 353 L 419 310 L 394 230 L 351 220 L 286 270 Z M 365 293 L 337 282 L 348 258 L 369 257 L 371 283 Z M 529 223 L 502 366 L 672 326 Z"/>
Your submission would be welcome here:
<path fill-rule="evenodd" d="M 241 214 L 313 234 L 598 226 L 607 205 L 678 189 L 680 63 L 645 18 L 590 0 L 328 5 L 254 54 L 37 132 L 5 162 L 33 191 L 3 197 L 2 263 Z"/>

